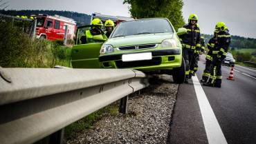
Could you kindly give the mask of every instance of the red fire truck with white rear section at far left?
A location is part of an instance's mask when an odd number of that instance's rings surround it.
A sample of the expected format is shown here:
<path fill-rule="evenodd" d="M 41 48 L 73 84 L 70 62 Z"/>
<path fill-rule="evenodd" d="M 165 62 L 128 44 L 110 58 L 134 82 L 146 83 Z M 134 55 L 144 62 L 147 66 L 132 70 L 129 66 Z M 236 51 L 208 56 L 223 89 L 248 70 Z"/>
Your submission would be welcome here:
<path fill-rule="evenodd" d="M 64 40 L 65 28 L 67 28 L 67 40 L 73 39 L 76 22 L 73 19 L 59 15 L 48 16 L 47 14 L 33 15 L 37 19 L 36 35 L 37 39 Z"/>

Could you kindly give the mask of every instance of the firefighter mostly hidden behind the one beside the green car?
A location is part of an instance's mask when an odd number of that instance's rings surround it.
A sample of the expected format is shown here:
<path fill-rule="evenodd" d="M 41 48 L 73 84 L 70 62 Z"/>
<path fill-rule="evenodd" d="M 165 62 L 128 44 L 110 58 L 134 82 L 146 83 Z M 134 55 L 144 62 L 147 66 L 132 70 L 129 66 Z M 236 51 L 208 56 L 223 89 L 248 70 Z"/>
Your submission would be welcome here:
<path fill-rule="evenodd" d="M 195 76 L 196 71 L 198 70 L 199 54 L 204 53 L 204 50 L 205 50 L 204 38 L 200 37 L 200 47 L 199 49 L 194 50 L 194 72 L 192 73 L 192 76 Z"/>

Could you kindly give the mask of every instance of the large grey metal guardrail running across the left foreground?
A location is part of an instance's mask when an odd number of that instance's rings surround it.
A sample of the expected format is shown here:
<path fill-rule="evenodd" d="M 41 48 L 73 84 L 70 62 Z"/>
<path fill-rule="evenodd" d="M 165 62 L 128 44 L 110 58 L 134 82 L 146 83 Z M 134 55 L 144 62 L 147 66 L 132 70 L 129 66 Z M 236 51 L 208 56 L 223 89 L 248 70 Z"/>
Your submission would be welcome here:
<path fill-rule="evenodd" d="M 125 113 L 127 96 L 149 85 L 136 70 L 0 68 L 0 75 L 1 144 L 35 143 L 63 133 L 119 99 Z"/>

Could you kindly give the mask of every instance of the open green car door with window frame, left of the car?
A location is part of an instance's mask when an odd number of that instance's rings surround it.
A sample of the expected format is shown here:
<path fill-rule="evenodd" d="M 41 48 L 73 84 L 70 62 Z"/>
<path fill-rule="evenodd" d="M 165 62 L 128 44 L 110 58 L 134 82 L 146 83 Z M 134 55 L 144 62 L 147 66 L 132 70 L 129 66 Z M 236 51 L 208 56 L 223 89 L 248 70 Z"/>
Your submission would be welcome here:
<path fill-rule="evenodd" d="M 77 28 L 76 41 L 71 51 L 71 63 L 73 68 L 100 68 L 99 56 L 102 43 L 81 44 L 80 39 L 91 25 Z"/>

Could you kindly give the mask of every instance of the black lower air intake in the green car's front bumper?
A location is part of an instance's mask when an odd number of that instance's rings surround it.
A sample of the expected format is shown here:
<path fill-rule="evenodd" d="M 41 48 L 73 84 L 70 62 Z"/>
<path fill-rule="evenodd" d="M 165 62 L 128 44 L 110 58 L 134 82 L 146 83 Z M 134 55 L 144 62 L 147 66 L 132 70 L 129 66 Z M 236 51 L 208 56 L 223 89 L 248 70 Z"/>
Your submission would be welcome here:
<path fill-rule="evenodd" d="M 151 66 L 151 65 L 160 65 L 161 64 L 161 57 L 153 57 L 151 60 L 145 61 L 116 61 L 116 66 L 118 68 L 136 68 L 136 67 L 143 67 L 143 66 Z"/>

